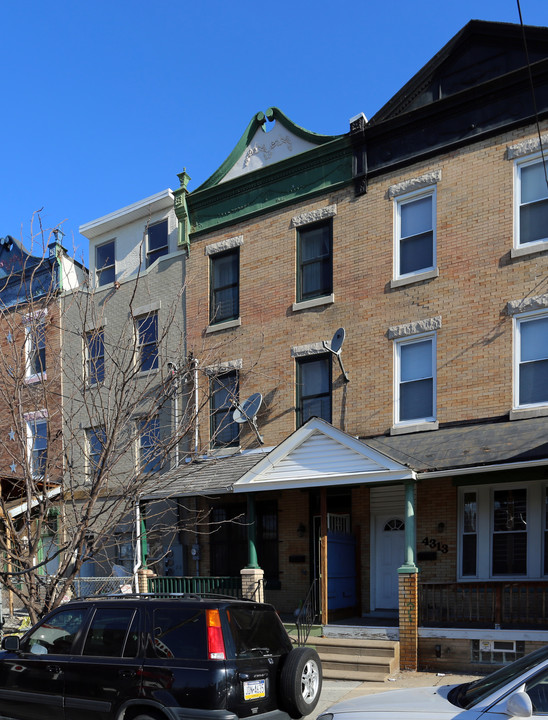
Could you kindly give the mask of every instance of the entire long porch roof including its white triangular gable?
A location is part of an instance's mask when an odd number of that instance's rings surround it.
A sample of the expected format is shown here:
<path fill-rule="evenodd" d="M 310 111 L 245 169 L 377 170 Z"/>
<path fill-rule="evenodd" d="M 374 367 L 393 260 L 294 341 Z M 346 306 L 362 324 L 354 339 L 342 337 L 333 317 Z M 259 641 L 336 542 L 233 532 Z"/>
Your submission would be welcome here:
<path fill-rule="evenodd" d="M 357 439 L 312 418 L 274 449 L 194 460 L 142 498 L 401 483 L 512 465 L 548 465 L 548 417 L 491 420 L 409 435 Z"/>

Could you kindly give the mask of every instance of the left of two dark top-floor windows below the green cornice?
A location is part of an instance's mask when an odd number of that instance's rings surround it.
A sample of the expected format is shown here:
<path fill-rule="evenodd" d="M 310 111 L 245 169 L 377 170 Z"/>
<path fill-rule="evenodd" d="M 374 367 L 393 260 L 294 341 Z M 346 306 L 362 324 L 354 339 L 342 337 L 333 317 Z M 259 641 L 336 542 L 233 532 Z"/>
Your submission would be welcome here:
<path fill-rule="evenodd" d="M 240 249 L 210 256 L 209 322 L 235 320 L 240 315 Z"/>

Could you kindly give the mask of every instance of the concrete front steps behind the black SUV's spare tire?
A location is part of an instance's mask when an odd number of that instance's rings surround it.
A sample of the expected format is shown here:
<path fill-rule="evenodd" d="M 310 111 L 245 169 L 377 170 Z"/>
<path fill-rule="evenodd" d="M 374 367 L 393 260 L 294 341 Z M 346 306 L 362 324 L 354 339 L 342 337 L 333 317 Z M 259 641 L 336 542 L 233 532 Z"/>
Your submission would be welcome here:
<path fill-rule="evenodd" d="M 383 682 L 400 667 L 396 641 L 309 637 L 307 644 L 316 648 L 323 676 L 330 680 Z"/>

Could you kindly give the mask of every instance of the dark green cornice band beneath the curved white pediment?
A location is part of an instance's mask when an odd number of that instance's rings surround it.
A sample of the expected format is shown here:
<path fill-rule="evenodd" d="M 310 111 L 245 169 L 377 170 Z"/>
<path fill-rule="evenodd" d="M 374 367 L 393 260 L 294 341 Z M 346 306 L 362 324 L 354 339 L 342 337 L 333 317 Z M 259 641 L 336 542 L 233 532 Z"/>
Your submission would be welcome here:
<path fill-rule="evenodd" d="M 186 196 L 175 191 L 179 219 L 188 213 L 190 240 L 284 205 L 352 183 L 352 147 L 344 137 L 249 175 Z"/>

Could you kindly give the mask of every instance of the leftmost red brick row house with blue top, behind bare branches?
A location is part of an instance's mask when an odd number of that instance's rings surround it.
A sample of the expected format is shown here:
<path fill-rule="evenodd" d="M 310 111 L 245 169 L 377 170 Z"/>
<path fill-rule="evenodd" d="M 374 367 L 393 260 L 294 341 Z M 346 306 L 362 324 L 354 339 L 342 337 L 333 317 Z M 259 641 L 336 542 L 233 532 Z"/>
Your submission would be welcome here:
<path fill-rule="evenodd" d="M 85 270 L 68 256 L 59 234 L 39 254 L 10 235 L 0 239 L 0 551 L 10 613 L 21 602 L 32 607 L 47 576 L 66 561 L 59 552 L 66 529 L 58 504 L 64 472 L 61 303 Z"/>

